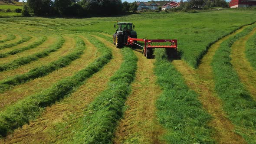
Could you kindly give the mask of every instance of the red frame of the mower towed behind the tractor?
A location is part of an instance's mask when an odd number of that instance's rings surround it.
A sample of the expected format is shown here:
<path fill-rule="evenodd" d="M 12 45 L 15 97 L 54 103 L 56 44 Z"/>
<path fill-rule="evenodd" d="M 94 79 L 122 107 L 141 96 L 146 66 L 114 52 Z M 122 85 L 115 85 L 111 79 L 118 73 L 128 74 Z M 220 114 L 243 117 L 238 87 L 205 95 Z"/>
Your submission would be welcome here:
<path fill-rule="evenodd" d="M 144 42 L 145 46 L 141 46 L 135 43 L 136 41 Z M 151 46 L 152 43 L 166 43 L 166 42 L 170 42 L 171 46 Z M 148 48 L 150 49 L 167 48 L 167 49 L 175 49 L 175 50 L 177 49 L 177 39 L 136 39 L 128 36 L 127 45 L 134 46 L 134 44 L 144 49 L 144 56 L 146 56 L 146 52 Z"/>

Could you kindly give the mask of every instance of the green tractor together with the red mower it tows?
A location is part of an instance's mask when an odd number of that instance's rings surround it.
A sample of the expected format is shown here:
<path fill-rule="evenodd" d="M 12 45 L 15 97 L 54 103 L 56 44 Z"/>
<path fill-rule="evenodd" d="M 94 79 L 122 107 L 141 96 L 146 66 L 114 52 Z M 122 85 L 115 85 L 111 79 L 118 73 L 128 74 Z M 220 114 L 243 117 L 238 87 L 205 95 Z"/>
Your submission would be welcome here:
<path fill-rule="evenodd" d="M 127 46 L 140 46 L 143 48 L 144 56 L 148 59 L 153 55 L 154 48 L 165 48 L 167 55 L 177 56 L 177 39 L 137 39 L 137 33 L 133 30 L 135 26 L 132 23 L 117 23 L 118 29 L 113 34 L 113 44 L 120 48 Z M 114 25 L 114 27 L 115 27 Z M 144 46 L 138 44 L 144 43 Z M 170 43 L 165 46 L 152 45 L 152 43 Z"/>

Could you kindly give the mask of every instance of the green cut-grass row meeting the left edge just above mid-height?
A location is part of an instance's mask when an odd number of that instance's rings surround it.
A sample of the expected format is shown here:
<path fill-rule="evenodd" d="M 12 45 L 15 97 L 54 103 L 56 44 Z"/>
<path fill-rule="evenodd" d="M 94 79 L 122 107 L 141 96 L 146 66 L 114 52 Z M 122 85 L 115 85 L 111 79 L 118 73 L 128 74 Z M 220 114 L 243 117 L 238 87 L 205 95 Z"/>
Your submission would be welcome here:
<path fill-rule="evenodd" d="M 43 52 L 38 52 L 31 56 L 21 57 L 19 59 L 15 59 L 12 62 L 4 63 L 3 65 L 0 65 L 0 72 L 10 70 L 10 69 L 16 69 L 20 65 L 26 65 L 29 64 L 32 61 L 38 60 L 40 58 L 49 56 L 51 52 L 56 52 L 58 49 L 62 47 L 62 45 L 65 43 L 65 39 L 60 36 L 58 38 L 58 42 L 53 44 L 49 47 L 49 49 L 45 49 Z"/>

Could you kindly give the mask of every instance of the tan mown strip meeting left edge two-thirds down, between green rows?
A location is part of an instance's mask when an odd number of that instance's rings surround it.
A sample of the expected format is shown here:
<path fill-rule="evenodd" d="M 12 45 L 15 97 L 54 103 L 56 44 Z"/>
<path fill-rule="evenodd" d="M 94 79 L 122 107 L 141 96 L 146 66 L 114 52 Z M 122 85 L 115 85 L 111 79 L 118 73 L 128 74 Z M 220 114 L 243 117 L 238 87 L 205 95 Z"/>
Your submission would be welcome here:
<path fill-rule="evenodd" d="M 88 42 L 86 39 L 84 40 Z M 73 39 L 71 40 L 71 42 L 75 44 Z M 68 51 L 69 49 L 66 50 L 66 52 Z M 59 80 L 67 76 L 73 75 L 74 72 L 77 72 L 85 68 L 90 62 L 92 62 L 98 56 L 99 55 L 97 50 L 94 47 L 88 46 L 85 49 L 84 54 L 79 59 L 72 61 L 70 65 L 62 69 L 58 69 L 54 72 L 51 72 L 49 75 L 46 75 L 44 77 L 34 79 L 24 84 L 16 85 L 13 89 L 0 94 L 0 111 L 5 109 L 4 107 L 6 107 L 7 105 L 11 105 L 14 102 L 26 96 L 32 95 L 37 92 L 41 92 L 44 89 L 49 88 L 53 83 L 58 82 Z"/>

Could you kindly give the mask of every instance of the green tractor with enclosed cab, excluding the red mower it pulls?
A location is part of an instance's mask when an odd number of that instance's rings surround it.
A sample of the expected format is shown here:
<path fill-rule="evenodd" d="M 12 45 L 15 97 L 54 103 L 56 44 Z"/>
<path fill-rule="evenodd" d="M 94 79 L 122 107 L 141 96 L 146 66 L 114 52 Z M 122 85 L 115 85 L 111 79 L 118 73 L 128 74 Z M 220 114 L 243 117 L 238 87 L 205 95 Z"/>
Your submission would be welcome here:
<path fill-rule="evenodd" d="M 118 29 L 116 29 L 116 32 L 113 34 L 113 44 L 117 48 L 128 45 L 128 36 L 137 38 L 137 33 L 133 30 L 135 29 L 135 25 L 132 23 L 116 23 L 115 25 L 118 25 Z M 114 27 L 116 27 L 115 25 Z"/>

